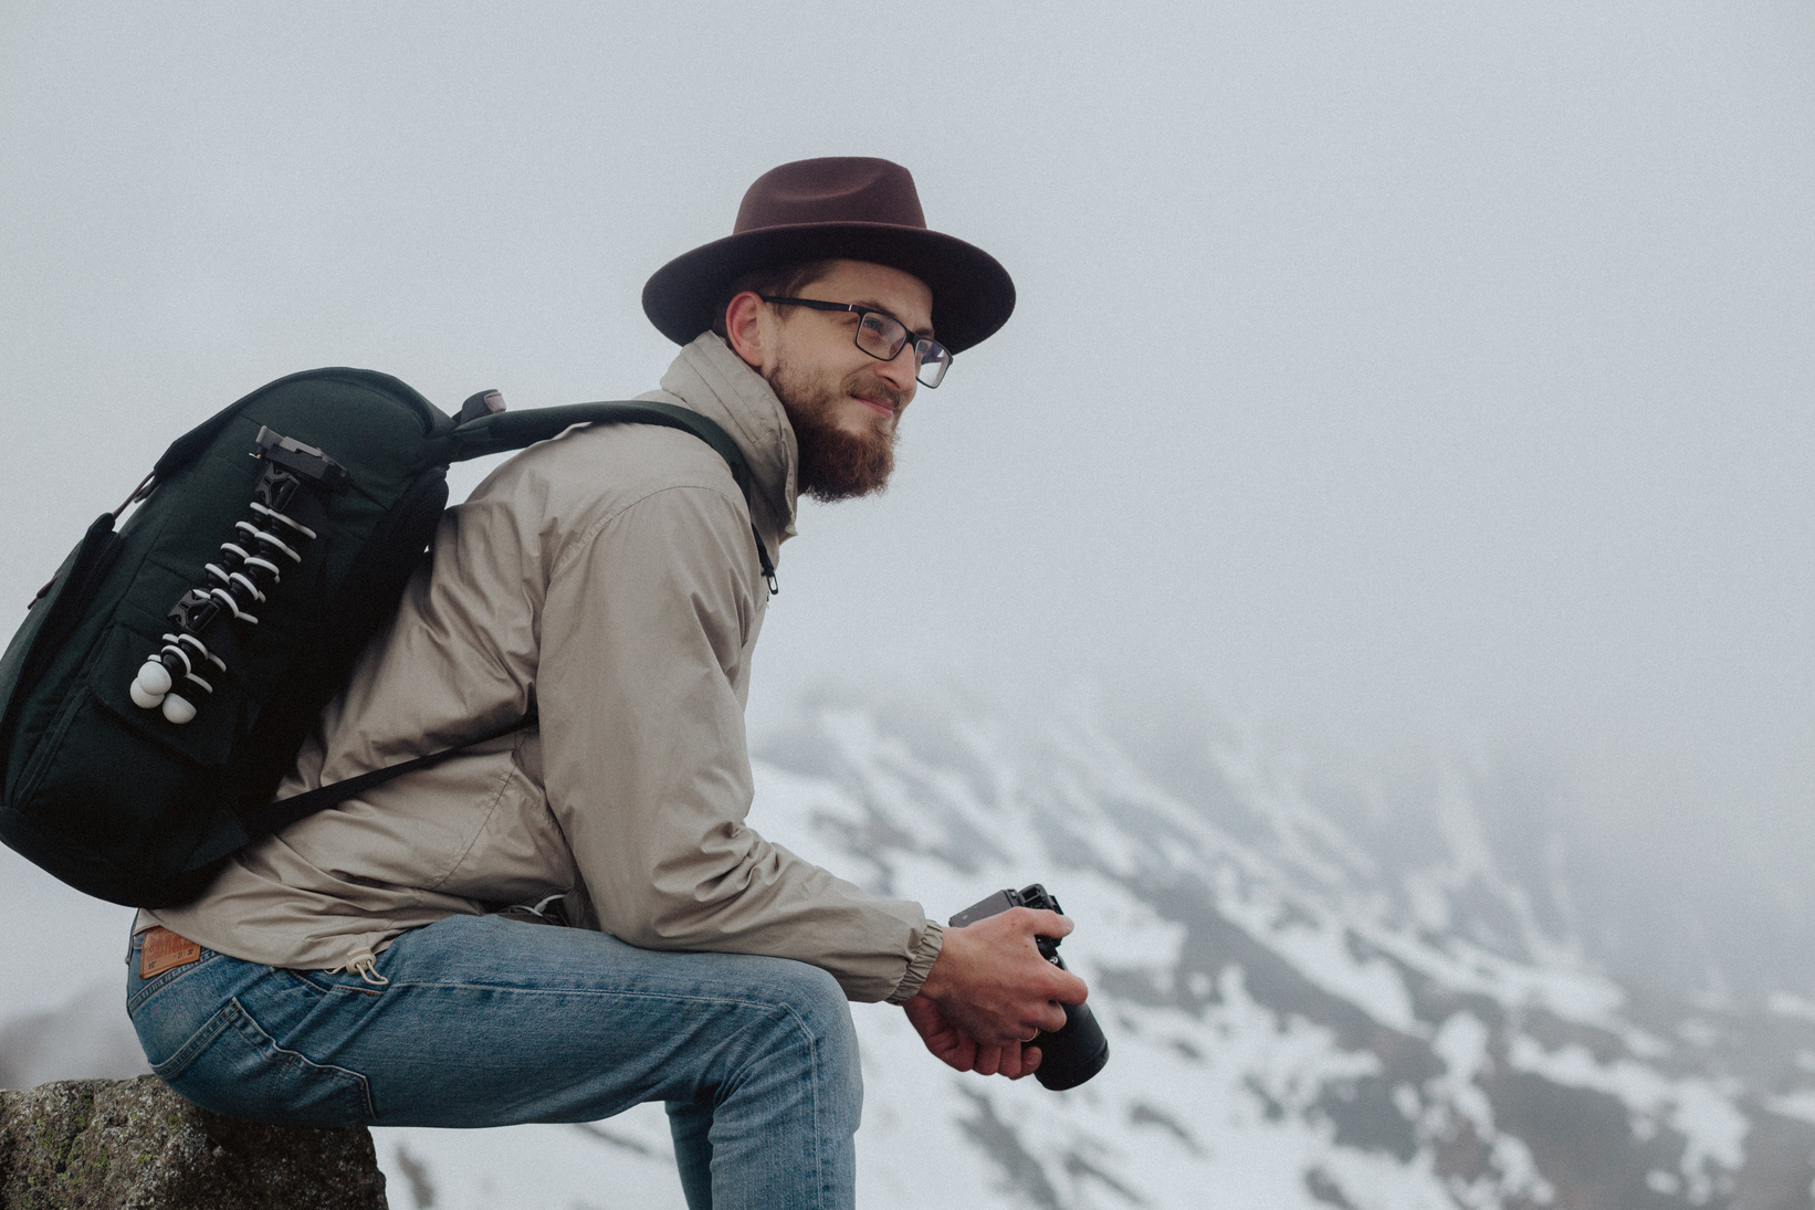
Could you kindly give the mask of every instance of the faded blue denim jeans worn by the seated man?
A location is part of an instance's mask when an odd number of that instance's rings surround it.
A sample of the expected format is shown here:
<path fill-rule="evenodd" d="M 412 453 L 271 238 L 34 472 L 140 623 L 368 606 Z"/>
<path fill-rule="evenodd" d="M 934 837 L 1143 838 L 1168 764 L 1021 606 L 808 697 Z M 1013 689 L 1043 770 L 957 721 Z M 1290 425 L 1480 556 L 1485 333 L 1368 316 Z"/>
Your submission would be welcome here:
<path fill-rule="evenodd" d="M 864 1088 L 837 981 L 788 958 L 679 954 L 450 916 L 358 974 L 203 949 L 138 978 L 152 1070 L 232 1117 L 316 1127 L 595 1121 L 666 1101 L 693 1210 L 851 1206 Z"/>

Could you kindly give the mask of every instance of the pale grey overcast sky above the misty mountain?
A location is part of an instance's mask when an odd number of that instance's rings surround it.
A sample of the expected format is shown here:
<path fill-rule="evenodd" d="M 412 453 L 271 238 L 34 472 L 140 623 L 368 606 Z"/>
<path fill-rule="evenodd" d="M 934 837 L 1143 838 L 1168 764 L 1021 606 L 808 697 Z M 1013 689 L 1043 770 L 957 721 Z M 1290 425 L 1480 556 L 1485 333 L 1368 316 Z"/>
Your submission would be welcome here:
<path fill-rule="evenodd" d="M 1020 308 L 806 510 L 759 711 L 1151 678 L 1800 845 L 1811 63 L 1791 0 L 0 0 L 0 604 L 290 370 L 650 388 L 648 274 L 878 154 Z"/>

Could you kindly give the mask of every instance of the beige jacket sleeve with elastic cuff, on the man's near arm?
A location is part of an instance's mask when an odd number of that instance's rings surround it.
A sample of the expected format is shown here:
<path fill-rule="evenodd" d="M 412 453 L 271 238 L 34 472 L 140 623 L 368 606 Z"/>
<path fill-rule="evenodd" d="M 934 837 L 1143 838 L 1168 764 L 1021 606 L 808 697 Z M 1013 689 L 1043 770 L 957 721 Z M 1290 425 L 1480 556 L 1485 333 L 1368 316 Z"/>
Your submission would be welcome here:
<path fill-rule="evenodd" d="M 851 1000 L 900 1001 L 926 980 L 938 925 L 744 824 L 751 542 L 739 501 L 670 486 L 559 550 L 535 673 L 548 802 L 606 932 L 795 958 Z"/>

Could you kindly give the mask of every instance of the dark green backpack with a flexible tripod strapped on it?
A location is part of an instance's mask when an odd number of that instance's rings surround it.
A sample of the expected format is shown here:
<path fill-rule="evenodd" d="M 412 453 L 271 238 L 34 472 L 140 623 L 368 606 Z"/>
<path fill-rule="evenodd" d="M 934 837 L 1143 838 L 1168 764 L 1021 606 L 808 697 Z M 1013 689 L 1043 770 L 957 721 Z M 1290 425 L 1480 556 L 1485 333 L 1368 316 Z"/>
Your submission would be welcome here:
<path fill-rule="evenodd" d="M 750 499 L 730 435 L 684 408 L 483 401 L 457 421 L 385 374 L 309 370 L 171 444 L 0 657 L 0 840 L 87 894 L 174 905 L 258 836 L 457 751 L 272 802 L 434 537 L 450 463 L 579 423 L 666 424 Z"/>

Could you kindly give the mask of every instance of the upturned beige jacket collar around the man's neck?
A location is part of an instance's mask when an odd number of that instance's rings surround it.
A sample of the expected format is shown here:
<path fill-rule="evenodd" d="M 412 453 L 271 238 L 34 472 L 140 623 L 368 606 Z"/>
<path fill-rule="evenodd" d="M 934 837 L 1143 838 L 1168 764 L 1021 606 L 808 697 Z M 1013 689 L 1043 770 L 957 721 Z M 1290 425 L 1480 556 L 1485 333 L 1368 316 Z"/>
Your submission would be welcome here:
<path fill-rule="evenodd" d="M 731 434 L 750 463 L 750 519 L 770 548 L 770 559 L 779 561 L 780 544 L 795 535 L 800 446 L 782 401 L 762 376 L 721 337 L 702 332 L 668 366 L 661 390 L 637 397 L 679 403 Z"/>

